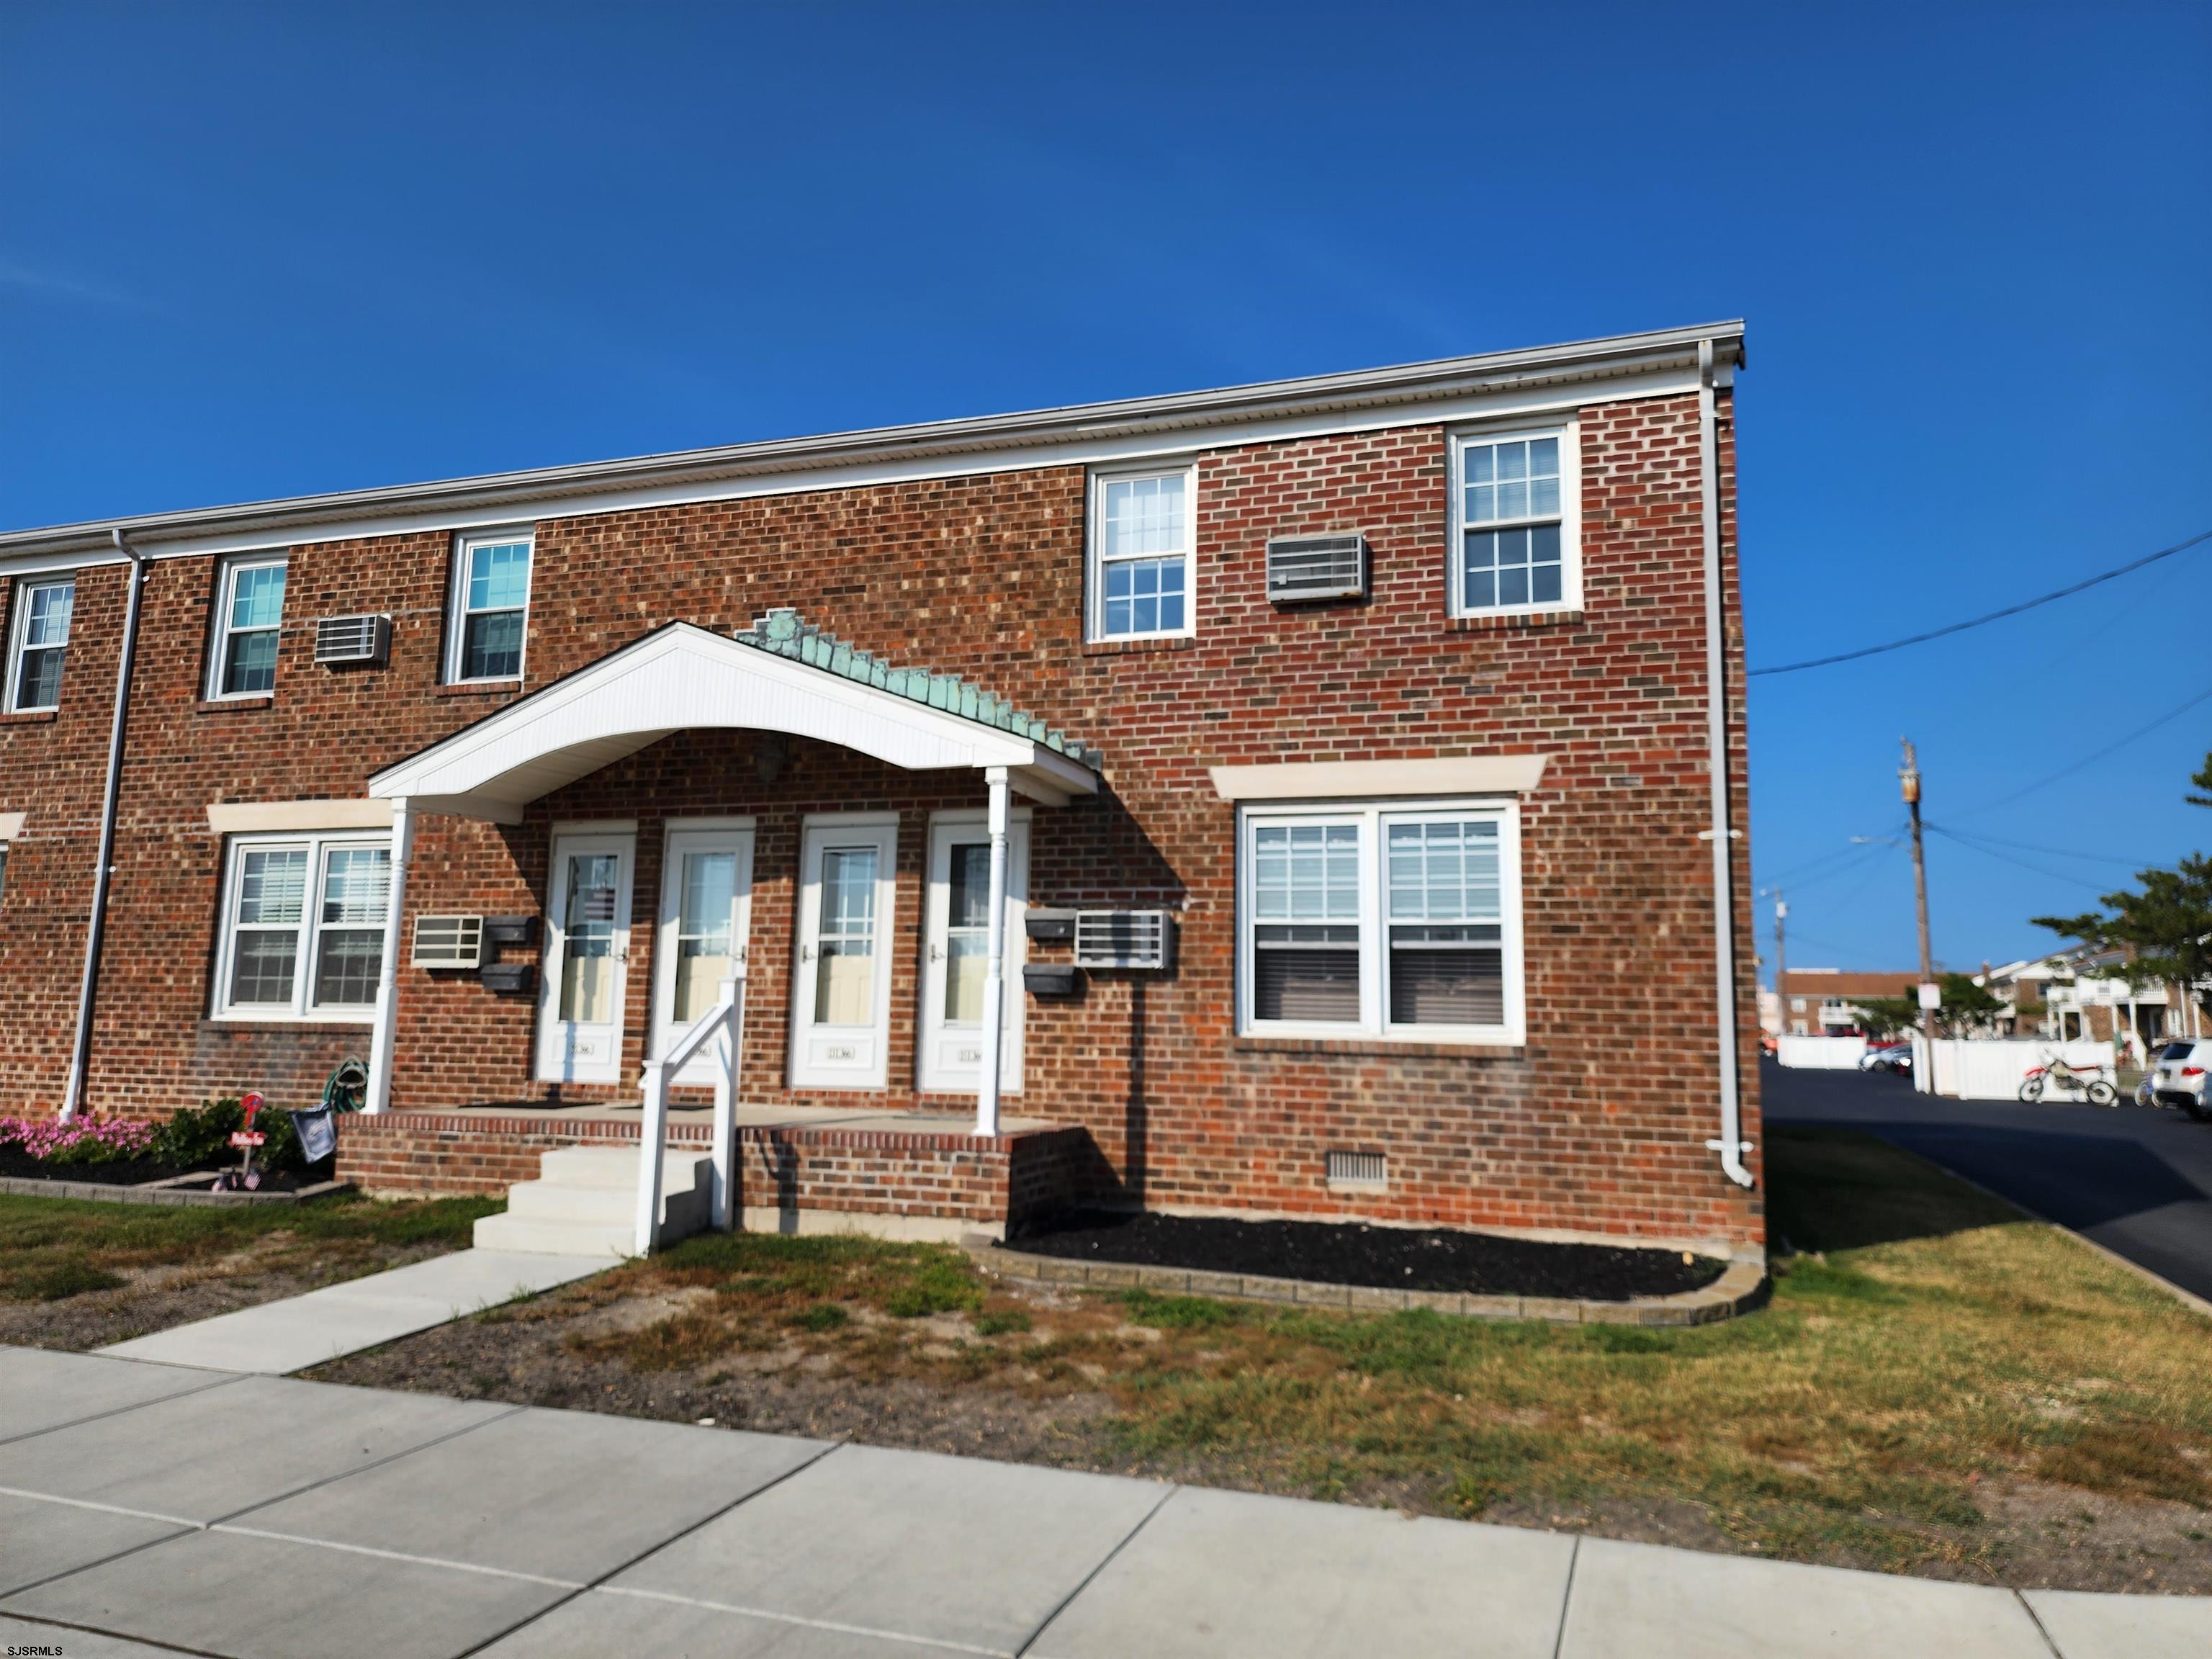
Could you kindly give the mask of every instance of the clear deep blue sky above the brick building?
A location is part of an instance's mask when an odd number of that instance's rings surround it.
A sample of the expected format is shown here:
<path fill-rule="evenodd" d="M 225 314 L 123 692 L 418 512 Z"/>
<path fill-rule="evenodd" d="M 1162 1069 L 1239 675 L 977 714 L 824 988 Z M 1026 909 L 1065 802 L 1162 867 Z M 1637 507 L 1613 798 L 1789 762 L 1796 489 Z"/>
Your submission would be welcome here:
<path fill-rule="evenodd" d="M 1794 661 L 2212 529 L 2208 64 L 2201 4 L 11 0 L 0 526 L 1741 314 Z M 2212 701 L 2004 801 L 2212 688 L 2208 602 L 1754 681 L 1792 958 L 1913 960 L 1900 734 L 2022 843 L 1931 838 L 1953 967 L 2212 843 Z"/>

